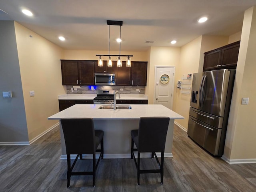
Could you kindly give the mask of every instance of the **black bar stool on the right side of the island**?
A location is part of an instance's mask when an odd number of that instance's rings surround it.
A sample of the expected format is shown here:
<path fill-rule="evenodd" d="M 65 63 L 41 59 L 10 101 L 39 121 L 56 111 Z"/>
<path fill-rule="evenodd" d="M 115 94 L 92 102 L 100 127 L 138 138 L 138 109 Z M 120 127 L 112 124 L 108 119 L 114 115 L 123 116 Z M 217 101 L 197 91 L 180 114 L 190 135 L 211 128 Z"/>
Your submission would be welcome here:
<path fill-rule="evenodd" d="M 131 131 L 131 158 L 134 158 L 137 168 L 138 185 L 140 185 L 140 174 L 144 173 L 160 173 L 161 183 L 164 183 L 164 148 L 169 121 L 169 117 L 141 117 L 139 129 Z M 134 149 L 134 143 L 136 149 Z M 134 151 L 138 152 L 138 163 Z M 151 158 L 155 156 L 160 169 L 140 170 L 140 153 L 142 152 L 151 152 Z M 156 152 L 161 152 L 161 163 Z"/>

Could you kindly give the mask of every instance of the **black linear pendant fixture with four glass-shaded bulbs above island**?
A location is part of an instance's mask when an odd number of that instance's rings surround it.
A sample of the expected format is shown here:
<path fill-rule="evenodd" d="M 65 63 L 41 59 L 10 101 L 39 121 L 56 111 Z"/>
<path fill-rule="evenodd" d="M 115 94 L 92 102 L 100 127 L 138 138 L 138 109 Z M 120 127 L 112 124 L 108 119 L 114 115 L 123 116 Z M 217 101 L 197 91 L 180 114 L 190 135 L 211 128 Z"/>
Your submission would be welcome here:
<path fill-rule="evenodd" d="M 121 39 L 121 26 L 123 25 L 122 21 L 111 21 L 107 20 L 108 24 L 108 55 L 96 55 L 99 56 L 98 58 L 98 66 L 102 67 L 103 66 L 103 59 L 102 56 L 107 56 L 108 57 L 108 67 L 112 67 L 112 56 L 118 56 L 118 61 L 117 61 L 117 66 L 122 67 L 122 57 L 127 57 L 126 58 L 126 67 L 131 66 L 131 59 L 133 55 L 121 55 L 121 41 L 119 42 L 119 55 L 110 55 L 110 25 L 118 25 L 120 26 L 120 39 Z"/>

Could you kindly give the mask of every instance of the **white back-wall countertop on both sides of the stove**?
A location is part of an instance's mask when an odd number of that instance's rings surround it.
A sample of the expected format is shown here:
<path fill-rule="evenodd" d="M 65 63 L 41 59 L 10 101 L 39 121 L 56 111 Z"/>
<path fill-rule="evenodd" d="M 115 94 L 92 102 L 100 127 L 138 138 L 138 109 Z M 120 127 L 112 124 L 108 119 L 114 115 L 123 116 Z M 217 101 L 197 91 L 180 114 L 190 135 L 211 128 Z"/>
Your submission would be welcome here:
<path fill-rule="evenodd" d="M 97 94 L 64 94 L 59 95 L 58 100 L 93 100 Z M 122 94 L 120 93 L 120 100 L 148 100 L 148 96 L 144 94 Z M 118 96 L 116 96 L 116 100 L 119 100 Z"/>

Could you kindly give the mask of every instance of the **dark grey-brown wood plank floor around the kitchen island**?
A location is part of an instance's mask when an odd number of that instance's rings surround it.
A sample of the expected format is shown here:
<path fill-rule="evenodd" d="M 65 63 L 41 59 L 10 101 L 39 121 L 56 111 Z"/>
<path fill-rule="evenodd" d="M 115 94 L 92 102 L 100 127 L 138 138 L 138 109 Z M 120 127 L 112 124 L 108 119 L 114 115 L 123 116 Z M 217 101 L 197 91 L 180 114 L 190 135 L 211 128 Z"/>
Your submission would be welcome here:
<path fill-rule="evenodd" d="M 229 165 L 197 146 L 174 126 L 173 158 L 164 159 L 160 174 L 142 174 L 137 186 L 130 159 L 104 159 L 92 176 L 72 176 L 66 188 L 66 160 L 60 160 L 60 134 L 55 128 L 30 146 L 0 146 L 0 192 L 255 192 L 256 164 Z M 144 158 L 142 168 L 156 166 Z M 76 170 L 90 170 L 91 160 L 78 160 Z"/>

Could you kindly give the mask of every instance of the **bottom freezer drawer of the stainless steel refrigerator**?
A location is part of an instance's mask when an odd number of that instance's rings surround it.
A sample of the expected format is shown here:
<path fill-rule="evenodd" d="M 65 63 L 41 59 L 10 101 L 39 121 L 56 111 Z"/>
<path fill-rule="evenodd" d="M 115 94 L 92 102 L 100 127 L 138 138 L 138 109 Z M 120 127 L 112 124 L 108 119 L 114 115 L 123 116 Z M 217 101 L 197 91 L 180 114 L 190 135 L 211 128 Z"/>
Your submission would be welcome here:
<path fill-rule="evenodd" d="M 188 120 L 188 136 L 213 155 L 219 154 L 222 129 L 216 129 L 193 117 Z"/>

